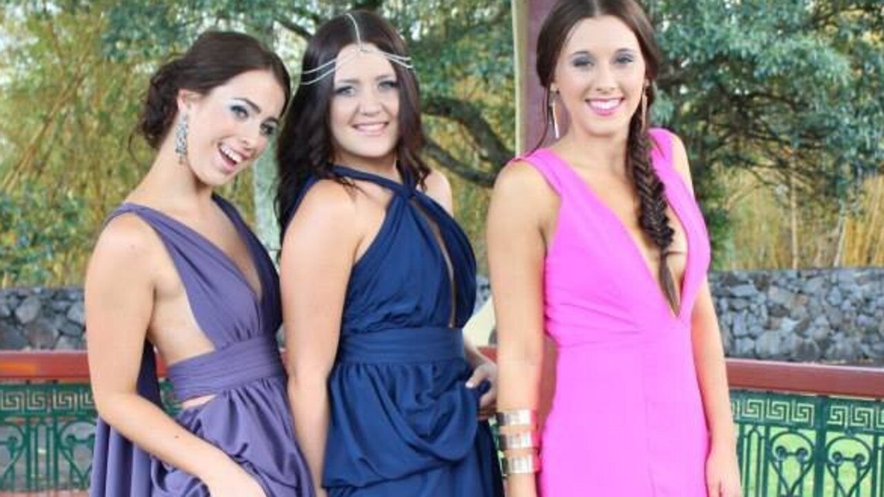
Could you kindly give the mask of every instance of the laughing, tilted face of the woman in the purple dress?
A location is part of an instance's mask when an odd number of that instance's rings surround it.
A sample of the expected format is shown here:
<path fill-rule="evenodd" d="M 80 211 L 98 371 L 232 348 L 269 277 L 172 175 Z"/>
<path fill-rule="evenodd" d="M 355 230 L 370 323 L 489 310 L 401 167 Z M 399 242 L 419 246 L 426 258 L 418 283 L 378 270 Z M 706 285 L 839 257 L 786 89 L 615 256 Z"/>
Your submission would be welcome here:
<path fill-rule="evenodd" d="M 254 163 L 276 134 L 285 102 L 269 71 L 241 73 L 206 95 L 181 90 L 179 111 L 187 114 L 187 163 L 194 175 L 217 187 Z"/>

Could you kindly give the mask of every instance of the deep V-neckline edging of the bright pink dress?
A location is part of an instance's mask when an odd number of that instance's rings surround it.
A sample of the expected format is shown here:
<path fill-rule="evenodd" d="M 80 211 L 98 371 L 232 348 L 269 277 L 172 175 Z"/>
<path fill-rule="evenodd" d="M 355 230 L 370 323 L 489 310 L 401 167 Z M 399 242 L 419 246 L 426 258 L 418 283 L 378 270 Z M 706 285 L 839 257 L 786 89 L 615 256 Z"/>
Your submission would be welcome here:
<path fill-rule="evenodd" d="M 645 278 L 653 284 L 654 294 L 657 294 L 662 302 L 666 305 L 667 310 L 669 310 L 669 314 L 676 318 L 681 319 L 682 314 L 687 307 L 684 302 L 684 298 L 686 296 L 686 288 L 688 284 L 688 280 L 690 277 L 690 264 L 691 264 L 691 256 L 693 254 L 693 249 L 690 246 L 690 236 L 688 236 L 688 226 L 685 224 L 685 216 L 681 210 L 679 210 L 679 205 L 677 202 L 673 202 L 671 195 L 669 195 L 669 188 L 666 183 L 664 183 L 664 195 L 666 195 L 667 204 L 672 207 L 672 211 L 674 217 L 678 221 L 678 223 L 682 226 L 682 233 L 684 233 L 684 242 L 685 242 L 685 259 L 684 259 L 684 271 L 682 271 L 682 279 L 678 283 L 678 310 L 674 310 L 671 305 L 669 305 L 669 300 L 666 297 L 666 294 L 663 294 L 663 287 L 660 285 L 660 282 L 654 276 L 652 265 L 649 263 L 648 259 L 644 256 L 642 248 L 639 247 L 639 241 L 636 241 L 636 238 L 629 233 L 629 229 L 623 223 L 620 216 L 606 203 L 604 203 L 601 197 L 596 194 L 596 191 L 593 189 L 592 185 L 589 181 L 583 180 L 583 177 L 577 173 L 574 168 L 568 164 L 568 162 L 560 157 L 559 154 L 554 152 L 552 149 L 545 149 L 547 153 L 552 155 L 563 167 L 563 169 L 568 170 L 568 174 L 572 175 L 572 180 L 577 182 L 580 185 L 580 189 L 583 192 L 583 196 L 585 196 L 589 201 L 595 204 L 598 207 L 598 210 L 603 212 L 603 215 L 606 218 L 609 218 L 610 222 L 616 225 L 615 228 L 619 233 L 621 233 L 627 241 L 629 241 L 629 246 L 631 247 L 631 251 L 633 255 L 636 257 L 636 260 L 640 262 L 644 268 L 642 271 L 645 275 Z M 663 179 L 660 178 L 660 182 L 663 182 Z M 671 219 L 670 219 L 671 222 Z"/>

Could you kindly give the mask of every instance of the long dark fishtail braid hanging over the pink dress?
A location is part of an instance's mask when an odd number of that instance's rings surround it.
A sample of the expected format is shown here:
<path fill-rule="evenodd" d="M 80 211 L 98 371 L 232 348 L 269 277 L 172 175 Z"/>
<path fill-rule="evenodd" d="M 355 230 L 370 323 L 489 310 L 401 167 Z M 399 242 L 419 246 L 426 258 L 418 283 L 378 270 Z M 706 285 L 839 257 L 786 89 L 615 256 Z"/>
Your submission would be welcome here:
<path fill-rule="evenodd" d="M 672 271 L 667 263 L 669 246 L 672 245 L 675 231 L 669 226 L 663 182 L 651 164 L 651 139 L 637 115 L 629 123 L 627 148 L 629 172 L 632 174 L 638 195 L 638 226 L 660 250 L 658 273 L 660 287 L 666 295 L 669 306 L 677 312 L 680 295 L 675 288 Z"/>

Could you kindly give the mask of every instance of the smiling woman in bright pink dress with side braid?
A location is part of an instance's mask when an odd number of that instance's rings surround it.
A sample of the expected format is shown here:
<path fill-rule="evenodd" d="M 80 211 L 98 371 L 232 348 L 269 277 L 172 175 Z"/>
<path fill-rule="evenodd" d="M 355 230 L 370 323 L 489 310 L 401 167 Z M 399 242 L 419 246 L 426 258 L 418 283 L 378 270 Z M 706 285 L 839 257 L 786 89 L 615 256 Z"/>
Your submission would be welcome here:
<path fill-rule="evenodd" d="M 487 228 L 507 495 L 735 497 L 708 234 L 682 141 L 646 126 L 651 23 L 633 0 L 560 0 L 537 47 L 558 140 L 501 172 Z"/>

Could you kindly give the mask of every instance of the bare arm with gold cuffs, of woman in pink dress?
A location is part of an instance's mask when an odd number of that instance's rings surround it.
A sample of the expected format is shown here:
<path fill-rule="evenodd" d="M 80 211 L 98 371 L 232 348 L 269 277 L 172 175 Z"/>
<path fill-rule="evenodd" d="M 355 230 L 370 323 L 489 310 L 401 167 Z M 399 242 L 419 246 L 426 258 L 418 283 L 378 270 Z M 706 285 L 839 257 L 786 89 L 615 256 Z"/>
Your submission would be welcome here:
<path fill-rule="evenodd" d="M 529 164 L 500 173 L 488 212 L 487 244 L 498 331 L 499 410 L 537 409 L 543 369 L 542 212 L 548 187 Z M 530 451 L 508 451 L 519 455 Z M 534 475 L 511 475 L 507 495 L 537 495 Z"/>

